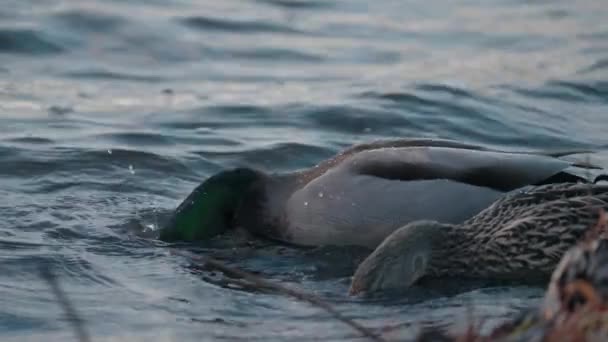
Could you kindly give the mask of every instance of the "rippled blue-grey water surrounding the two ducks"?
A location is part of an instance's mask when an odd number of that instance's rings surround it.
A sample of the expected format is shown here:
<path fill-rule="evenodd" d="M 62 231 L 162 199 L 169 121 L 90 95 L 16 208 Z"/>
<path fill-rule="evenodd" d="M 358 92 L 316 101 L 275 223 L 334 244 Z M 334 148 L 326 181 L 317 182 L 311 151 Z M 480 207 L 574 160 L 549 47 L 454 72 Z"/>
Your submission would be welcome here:
<path fill-rule="evenodd" d="M 606 146 L 607 17 L 597 0 L 3 0 L 0 339 L 73 338 L 40 267 L 94 341 L 353 338 L 306 303 L 218 286 L 140 227 L 222 168 L 293 170 L 371 139 Z M 206 252 L 373 328 L 457 326 L 469 306 L 498 322 L 542 294 L 350 299 L 344 251 Z"/>

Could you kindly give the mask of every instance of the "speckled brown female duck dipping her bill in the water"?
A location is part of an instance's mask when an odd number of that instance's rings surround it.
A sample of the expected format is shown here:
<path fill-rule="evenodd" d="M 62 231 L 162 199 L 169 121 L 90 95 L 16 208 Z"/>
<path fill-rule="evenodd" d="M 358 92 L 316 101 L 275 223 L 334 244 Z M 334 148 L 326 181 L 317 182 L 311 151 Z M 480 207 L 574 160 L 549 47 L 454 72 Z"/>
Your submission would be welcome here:
<path fill-rule="evenodd" d="M 608 210 L 608 185 L 561 183 L 512 192 L 460 225 L 412 222 L 357 268 L 350 293 L 407 288 L 423 276 L 548 279 Z"/>

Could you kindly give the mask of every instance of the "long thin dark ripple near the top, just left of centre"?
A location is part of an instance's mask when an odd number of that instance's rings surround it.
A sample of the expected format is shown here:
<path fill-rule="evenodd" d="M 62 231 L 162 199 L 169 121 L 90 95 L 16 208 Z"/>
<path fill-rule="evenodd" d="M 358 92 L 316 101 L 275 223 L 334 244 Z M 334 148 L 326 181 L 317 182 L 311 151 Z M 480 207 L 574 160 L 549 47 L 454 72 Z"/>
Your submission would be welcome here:
<path fill-rule="evenodd" d="M 210 17 L 186 17 L 180 19 L 185 26 L 201 31 L 227 31 L 239 34 L 251 33 L 300 33 L 300 31 L 286 25 L 279 25 L 263 21 L 217 19 Z"/>

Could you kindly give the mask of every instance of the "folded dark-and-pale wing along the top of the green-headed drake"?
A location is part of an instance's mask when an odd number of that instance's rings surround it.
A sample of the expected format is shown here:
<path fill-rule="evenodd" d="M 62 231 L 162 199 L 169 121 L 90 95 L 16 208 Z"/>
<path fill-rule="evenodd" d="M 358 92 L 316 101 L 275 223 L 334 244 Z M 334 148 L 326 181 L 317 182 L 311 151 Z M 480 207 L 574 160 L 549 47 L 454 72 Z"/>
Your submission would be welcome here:
<path fill-rule="evenodd" d="M 498 191 L 557 182 L 588 182 L 572 162 L 549 155 L 416 146 L 363 150 L 338 167 L 391 180 L 448 179 Z"/>

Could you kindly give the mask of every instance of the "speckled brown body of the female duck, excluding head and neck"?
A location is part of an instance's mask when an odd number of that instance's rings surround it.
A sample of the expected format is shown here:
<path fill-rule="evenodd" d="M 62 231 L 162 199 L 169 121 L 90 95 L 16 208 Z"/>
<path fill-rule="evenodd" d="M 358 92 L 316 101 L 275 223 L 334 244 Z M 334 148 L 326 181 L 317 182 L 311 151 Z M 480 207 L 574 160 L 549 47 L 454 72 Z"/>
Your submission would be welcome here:
<path fill-rule="evenodd" d="M 550 275 L 563 254 L 608 210 L 608 186 L 554 184 L 509 194 L 462 229 L 472 269 L 486 276 Z"/>

